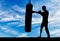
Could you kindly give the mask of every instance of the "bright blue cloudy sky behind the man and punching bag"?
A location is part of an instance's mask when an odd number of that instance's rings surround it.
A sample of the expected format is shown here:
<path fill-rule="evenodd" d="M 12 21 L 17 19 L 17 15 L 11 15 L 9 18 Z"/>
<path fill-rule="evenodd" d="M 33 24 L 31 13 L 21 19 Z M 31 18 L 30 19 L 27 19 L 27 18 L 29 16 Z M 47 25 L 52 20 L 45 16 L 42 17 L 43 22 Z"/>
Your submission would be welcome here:
<path fill-rule="evenodd" d="M 25 10 L 29 0 L 0 0 L 0 37 L 38 37 L 42 16 L 32 14 L 32 31 L 25 32 Z M 60 37 L 60 0 L 31 0 L 33 11 L 49 11 L 48 28 L 50 37 Z M 43 28 L 42 37 L 47 37 Z"/>

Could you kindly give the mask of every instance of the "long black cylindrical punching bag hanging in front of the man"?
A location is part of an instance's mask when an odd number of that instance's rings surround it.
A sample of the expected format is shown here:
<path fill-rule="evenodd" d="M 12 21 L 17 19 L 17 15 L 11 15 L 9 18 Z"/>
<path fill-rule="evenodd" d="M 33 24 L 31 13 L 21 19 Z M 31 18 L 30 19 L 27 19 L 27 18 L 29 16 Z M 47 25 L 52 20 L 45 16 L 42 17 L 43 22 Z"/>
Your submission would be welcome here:
<path fill-rule="evenodd" d="M 32 9 L 33 9 L 33 5 L 31 4 L 31 0 L 29 0 L 29 3 L 26 5 L 26 16 L 25 16 L 26 32 L 31 32 Z"/>

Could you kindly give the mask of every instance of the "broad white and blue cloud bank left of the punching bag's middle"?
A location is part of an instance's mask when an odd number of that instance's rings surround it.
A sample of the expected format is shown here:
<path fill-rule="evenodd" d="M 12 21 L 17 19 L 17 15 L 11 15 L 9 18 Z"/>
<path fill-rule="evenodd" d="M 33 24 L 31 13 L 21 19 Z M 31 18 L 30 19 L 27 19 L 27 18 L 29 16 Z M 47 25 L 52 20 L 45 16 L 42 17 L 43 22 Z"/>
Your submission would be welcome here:
<path fill-rule="evenodd" d="M 20 16 L 18 14 L 16 14 L 14 11 L 1 11 L 0 12 L 0 22 L 4 22 L 4 21 L 13 21 L 13 20 L 21 20 L 23 21 L 25 18 L 24 16 Z M 13 15 L 15 14 L 15 16 Z"/>

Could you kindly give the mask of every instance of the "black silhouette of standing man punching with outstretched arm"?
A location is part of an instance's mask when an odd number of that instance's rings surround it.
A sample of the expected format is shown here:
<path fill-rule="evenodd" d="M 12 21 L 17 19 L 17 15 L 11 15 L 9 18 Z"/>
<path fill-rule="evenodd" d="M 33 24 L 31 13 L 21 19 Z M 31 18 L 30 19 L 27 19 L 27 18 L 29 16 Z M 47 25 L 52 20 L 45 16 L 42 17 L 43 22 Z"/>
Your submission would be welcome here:
<path fill-rule="evenodd" d="M 48 37 L 50 37 L 50 34 L 49 34 L 49 30 L 48 30 L 48 16 L 49 16 L 49 12 L 46 10 L 46 6 L 42 6 L 42 10 L 44 12 L 35 12 L 35 13 L 38 13 L 38 14 L 41 14 L 42 17 L 43 17 L 43 20 L 42 20 L 42 24 L 41 24 L 41 29 L 40 29 L 40 37 L 41 37 L 41 33 L 42 33 L 42 29 L 43 27 L 45 27 L 45 30 L 46 30 L 46 33 L 48 35 Z"/>

